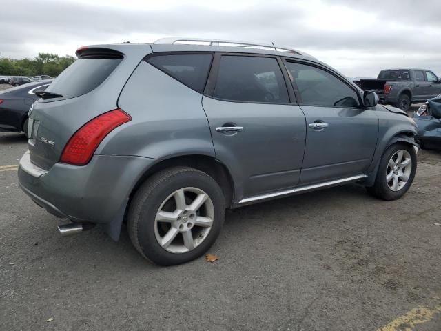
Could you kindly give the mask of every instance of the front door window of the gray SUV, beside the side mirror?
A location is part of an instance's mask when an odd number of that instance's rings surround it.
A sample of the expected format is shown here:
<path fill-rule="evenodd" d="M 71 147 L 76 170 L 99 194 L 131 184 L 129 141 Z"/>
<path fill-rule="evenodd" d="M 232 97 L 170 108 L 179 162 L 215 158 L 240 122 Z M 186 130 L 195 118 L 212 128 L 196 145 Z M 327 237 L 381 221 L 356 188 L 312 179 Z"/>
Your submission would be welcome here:
<path fill-rule="evenodd" d="M 358 107 L 358 94 L 329 72 L 300 63 L 287 63 L 303 105 Z"/>

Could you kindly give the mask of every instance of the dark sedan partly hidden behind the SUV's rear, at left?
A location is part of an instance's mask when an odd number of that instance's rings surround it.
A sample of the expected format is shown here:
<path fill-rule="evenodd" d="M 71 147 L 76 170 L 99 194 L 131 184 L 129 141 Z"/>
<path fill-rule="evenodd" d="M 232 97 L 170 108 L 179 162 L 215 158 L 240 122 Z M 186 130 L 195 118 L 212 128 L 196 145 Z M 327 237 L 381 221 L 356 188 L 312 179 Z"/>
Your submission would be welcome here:
<path fill-rule="evenodd" d="M 28 111 L 39 99 L 34 93 L 45 90 L 51 82 L 29 83 L 0 91 L 0 131 L 24 132 L 28 137 Z"/>

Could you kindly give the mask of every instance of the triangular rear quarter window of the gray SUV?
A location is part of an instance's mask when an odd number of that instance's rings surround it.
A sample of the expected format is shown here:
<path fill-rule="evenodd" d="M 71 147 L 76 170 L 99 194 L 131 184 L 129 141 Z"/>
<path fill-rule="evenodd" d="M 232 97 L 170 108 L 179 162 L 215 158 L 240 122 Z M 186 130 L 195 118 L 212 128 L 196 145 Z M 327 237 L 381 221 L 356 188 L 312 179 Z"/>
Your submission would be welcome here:
<path fill-rule="evenodd" d="M 212 57 L 212 54 L 171 54 L 150 57 L 147 62 L 202 93 Z"/>

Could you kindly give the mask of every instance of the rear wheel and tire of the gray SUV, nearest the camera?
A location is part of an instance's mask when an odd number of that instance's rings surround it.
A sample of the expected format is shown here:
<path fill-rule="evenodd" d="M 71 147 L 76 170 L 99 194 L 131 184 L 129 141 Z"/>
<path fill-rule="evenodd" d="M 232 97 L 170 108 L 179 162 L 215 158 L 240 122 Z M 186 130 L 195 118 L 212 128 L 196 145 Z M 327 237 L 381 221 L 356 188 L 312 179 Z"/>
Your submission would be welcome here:
<path fill-rule="evenodd" d="M 216 241 L 225 219 L 218 183 L 194 168 L 154 174 L 136 192 L 127 217 L 135 248 L 153 263 L 192 261 Z"/>

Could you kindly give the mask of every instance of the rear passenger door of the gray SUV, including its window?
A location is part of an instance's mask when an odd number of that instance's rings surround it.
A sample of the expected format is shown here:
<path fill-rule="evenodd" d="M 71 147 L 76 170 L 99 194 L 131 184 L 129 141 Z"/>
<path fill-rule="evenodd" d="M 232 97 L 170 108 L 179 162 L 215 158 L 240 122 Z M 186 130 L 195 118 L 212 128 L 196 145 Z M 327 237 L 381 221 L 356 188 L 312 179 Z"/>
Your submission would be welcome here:
<path fill-rule="evenodd" d="M 281 63 L 234 53 L 216 54 L 212 65 L 203 108 L 216 158 L 234 178 L 236 200 L 292 188 L 300 179 L 305 116 Z"/>

